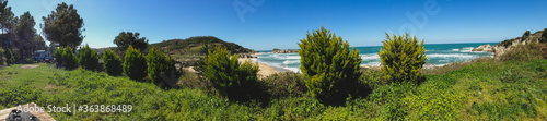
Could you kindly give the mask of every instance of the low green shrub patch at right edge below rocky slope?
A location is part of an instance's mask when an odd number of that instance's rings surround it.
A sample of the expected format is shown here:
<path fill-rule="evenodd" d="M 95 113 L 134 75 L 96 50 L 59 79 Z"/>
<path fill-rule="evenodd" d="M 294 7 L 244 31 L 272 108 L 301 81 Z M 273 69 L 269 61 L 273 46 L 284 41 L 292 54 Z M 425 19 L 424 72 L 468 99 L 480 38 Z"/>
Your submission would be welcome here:
<path fill-rule="evenodd" d="M 500 56 L 502 61 L 529 61 L 534 59 L 547 59 L 547 44 L 533 43 L 519 45 L 511 51 Z"/>

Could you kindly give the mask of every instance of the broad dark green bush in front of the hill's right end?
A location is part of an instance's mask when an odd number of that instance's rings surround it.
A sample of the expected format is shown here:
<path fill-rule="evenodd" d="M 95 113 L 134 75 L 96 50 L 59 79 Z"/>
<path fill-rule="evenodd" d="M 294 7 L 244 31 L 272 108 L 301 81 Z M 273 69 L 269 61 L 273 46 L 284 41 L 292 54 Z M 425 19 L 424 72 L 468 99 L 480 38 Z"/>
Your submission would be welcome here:
<path fill-rule="evenodd" d="M 225 48 L 216 47 L 205 61 L 203 75 L 217 92 L 231 100 L 246 101 L 254 98 L 258 65 L 240 63 L 236 55 L 230 56 Z"/>

